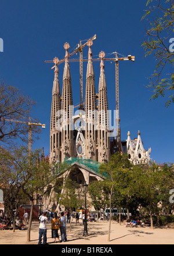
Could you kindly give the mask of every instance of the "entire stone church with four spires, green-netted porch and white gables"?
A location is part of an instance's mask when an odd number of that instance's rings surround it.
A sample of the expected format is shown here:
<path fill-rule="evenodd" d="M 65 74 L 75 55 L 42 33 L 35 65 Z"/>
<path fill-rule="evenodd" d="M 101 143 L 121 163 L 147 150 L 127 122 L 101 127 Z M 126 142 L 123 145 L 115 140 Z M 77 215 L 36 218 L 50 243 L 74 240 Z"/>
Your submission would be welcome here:
<path fill-rule="evenodd" d="M 95 180 L 103 180 L 99 173 L 99 164 L 110 161 L 115 152 L 111 144 L 110 120 L 108 116 L 107 84 L 104 71 L 104 52 L 100 52 L 99 84 L 95 84 L 95 72 L 92 62 L 92 43 L 88 42 L 88 65 L 86 70 L 85 106 L 78 115 L 74 115 L 71 73 L 69 65 L 68 43 L 64 59 L 63 87 L 60 92 L 59 69 L 55 62 L 55 78 L 52 88 L 52 106 L 50 115 L 50 162 L 67 161 L 70 168 L 62 177 L 68 176 L 82 186 Z M 150 152 L 144 150 L 140 131 L 137 138 L 131 140 L 128 131 L 126 141 L 121 141 L 121 152 L 128 154 L 129 160 L 137 165 L 150 161 Z M 59 202 L 54 201 L 52 189 L 45 198 L 47 209 L 59 210 Z M 61 191 L 63 193 L 63 191 Z"/>

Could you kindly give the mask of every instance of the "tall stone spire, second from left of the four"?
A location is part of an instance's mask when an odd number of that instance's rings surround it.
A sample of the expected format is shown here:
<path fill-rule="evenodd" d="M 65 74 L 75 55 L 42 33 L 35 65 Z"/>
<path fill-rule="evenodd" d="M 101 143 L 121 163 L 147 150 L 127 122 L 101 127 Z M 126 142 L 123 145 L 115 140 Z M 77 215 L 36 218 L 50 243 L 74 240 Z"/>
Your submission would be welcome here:
<path fill-rule="evenodd" d="M 68 48 L 70 45 L 66 42 L 64 72 L 63 72 L 63 88 L 61 95 L 61 162 L 64 158 L 70 158 L 74 155 L 74 140 L 73 140 L 73 94 L 71 88 L 71 74 L 69 66 Z"/>

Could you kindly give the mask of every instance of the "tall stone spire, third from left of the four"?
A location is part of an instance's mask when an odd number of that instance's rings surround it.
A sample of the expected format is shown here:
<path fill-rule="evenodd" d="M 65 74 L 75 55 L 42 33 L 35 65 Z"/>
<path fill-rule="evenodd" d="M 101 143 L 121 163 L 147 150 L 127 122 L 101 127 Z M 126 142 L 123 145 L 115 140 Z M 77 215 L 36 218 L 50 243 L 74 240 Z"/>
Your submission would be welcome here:
<path fill-rule="evenodd" d="M 97 130 L 95 129 L 96 119 L 96 89 L 95 74 L 92 63 L 92 40 L 88 41 L 88 65 L 86 72 L 86 91 L 85 91 L 85 156 L 97 160 Z"/>

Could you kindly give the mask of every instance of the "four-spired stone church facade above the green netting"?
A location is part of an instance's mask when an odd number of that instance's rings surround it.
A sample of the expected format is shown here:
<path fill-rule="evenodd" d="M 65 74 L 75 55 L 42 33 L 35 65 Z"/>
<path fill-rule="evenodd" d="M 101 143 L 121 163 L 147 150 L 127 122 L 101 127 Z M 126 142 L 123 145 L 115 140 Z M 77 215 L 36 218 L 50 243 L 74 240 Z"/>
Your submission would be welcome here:
<path fill-rule="evenodd" d="M 73 93 L 66 49 L 63 88 L 60 94 L 59 69 L 55 65 L 50 118 L 50 162 L 63 162 L 65 158 L 89 158 L 98 162 L 110 160 L 110 138 L 104 52 L 100 52 L 100 79 L 98 93 L 92 63 L 92 41 L 88 41 L 88 65 L 86 72 L 85 109 L 74 116 Z M 98 105 L 97 105 L 98 101 Z"/>

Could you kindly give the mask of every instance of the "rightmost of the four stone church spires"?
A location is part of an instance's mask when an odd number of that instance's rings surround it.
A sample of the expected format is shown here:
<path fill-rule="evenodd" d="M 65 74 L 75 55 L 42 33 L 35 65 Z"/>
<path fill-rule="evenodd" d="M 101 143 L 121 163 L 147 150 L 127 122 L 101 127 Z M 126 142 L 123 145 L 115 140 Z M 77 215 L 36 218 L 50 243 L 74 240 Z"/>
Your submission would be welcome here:
<path fill-rule="evenodd" d="M 110 160 L 110 137 L 109 131 L 109 116 L 108 116 L 108 101 L 106 77 L 104 73 L 104 52 L 100 52 L 100 78 L 99 78 L 99 93 L 98 93 L 98 161 L 108 162 Z"/>

